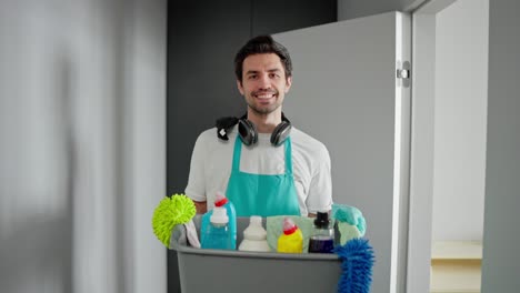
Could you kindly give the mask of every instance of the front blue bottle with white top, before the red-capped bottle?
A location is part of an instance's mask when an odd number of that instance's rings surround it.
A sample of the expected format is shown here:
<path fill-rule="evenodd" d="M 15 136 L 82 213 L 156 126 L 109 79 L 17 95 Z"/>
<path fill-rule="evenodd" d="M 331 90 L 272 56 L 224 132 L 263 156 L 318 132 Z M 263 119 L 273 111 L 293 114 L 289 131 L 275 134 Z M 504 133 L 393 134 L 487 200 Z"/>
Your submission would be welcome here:
<path fill-rule="evenodd" d="M 231 235 L 229 230 L 229 216 L 226 208 L 216 206 L 210 216 L 210 225 L 206 231 L 202 249 L 210 250 L 234 250 L 231 245 Z"/>

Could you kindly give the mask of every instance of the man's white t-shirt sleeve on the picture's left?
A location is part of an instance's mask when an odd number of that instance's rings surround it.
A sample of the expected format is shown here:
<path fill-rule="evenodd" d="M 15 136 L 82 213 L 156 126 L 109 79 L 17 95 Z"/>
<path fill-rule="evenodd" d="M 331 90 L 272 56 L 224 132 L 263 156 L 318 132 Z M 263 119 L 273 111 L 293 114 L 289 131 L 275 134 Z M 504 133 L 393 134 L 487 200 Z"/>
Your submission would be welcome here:
<path fill-rule="evenodd" d="M 200 134 L 193 146 L 190 162 L 190 174 L 188 176 L 188 185 L 184 193 L 193 201 L 204 202 L 206 196 L 206 172 L 204 164 L 206 155 L 208 154 L 207 143 L 204 142 L 204 133 Z"/>

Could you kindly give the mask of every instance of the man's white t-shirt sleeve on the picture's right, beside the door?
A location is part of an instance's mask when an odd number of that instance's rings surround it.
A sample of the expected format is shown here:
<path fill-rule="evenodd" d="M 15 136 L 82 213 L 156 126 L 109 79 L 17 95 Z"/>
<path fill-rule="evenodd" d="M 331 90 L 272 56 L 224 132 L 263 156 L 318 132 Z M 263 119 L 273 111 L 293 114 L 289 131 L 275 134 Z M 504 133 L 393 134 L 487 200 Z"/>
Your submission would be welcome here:
<path fill-rule="evenodd" d="M 324 148 L 318 152 L 317 168 L 312 174 L 307 209 L 309 213 L 324 212 L 332 209 L 332 179 L 330 173 L 330 155 Z"/>

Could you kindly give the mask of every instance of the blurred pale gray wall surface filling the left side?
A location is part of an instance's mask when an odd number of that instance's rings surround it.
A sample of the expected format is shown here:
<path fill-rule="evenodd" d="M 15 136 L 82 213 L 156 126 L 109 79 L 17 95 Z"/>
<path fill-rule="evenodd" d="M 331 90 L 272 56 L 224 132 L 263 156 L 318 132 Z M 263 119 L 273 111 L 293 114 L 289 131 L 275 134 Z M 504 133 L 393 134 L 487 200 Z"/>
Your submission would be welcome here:
<path fill-rule="evenodd" d="M 0 2 L 0 291 L 166 292 L 166 1 Z"/>

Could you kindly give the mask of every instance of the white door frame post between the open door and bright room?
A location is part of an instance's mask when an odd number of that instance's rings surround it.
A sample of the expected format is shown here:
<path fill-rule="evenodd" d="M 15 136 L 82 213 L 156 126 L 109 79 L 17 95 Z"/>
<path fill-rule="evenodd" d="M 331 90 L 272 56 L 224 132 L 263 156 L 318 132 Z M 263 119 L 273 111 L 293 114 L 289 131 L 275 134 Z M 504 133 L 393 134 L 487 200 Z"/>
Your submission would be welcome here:
<path fill-rule="evenodd" d="M 416 1 L 407 11 L 412 16 L 407 292 L 430 292 L 436 99 L 436 16 L 456 1 Z"/>

